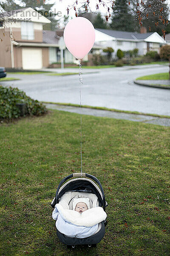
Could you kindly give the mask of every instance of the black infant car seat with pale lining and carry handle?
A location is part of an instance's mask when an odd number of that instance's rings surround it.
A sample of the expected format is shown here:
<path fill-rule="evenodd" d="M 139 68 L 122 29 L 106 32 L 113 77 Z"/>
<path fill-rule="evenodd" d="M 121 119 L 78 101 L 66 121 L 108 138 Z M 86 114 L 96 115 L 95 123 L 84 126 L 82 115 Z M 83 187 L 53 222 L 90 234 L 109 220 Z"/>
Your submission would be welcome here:
<path fill-rule="evenodd" d="M 66 180 L 69 181 L 65 183 Z M 62 204 L 65 209 L 72 209 L 73 199 L 77 197 L 88 197 L 90 199 L 91 208 L 99 206 L 103 207 L 105 211 L 105 207 L 108 205 L 105 201 L 105 194 L 99 180 L 93 175 L 83 172 L 73 173 L 61 180 L 57 188 L 56 195 L 51 202 L 51 207 L 55 208 L 55 205 L 59 203 Z M 65 236 L 60 233 L 59 230 L 57 230 L 57 236 L 59 240 L 68 247 L 75 247 L 77 244 L 88 244 L 89 247 L 95 247 L 96 244 L 98 244 L 104 237 L 106 225 L 107 221 L 102 221 L 99 223 L 98 229 L 94 235 L 82 239 Z"/>

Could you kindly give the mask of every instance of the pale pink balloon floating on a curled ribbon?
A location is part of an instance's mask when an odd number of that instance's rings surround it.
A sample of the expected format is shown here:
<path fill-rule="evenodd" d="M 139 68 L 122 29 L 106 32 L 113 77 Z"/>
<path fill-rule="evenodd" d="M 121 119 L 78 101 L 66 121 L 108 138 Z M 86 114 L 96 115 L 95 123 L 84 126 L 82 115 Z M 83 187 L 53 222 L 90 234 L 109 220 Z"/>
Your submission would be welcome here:
<path fill-rule="evenodd" d="M 75 58 L 82 59 L 94 45 L 94 26 L 88 19 L 76 17 L 67 23 L 63 36 L 69 52 Z"/>

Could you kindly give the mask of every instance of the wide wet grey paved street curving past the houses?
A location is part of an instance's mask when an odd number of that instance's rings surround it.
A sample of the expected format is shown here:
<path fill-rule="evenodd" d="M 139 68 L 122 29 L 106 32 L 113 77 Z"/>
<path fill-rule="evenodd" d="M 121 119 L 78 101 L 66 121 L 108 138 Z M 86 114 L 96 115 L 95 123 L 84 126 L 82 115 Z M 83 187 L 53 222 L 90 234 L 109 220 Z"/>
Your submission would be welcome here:
<path fill-rule="evenodd" d="M 82 105 L 170 116 L 170 90 L 143 87 L 132 82 L 139 76 L 164 73 L 168 70 L 167 65 L 85 69 L 82 71 Z M 61 72 L 60 69 L 53 69 L 53 71 Z M 63 71 L 78 73 L 79 70 L 77 67 L 77 69 L 66 68 Z M 11 74 L 8 77 L 17 77 L 22 80 L 6 81 L 0 84 L 18 87 L 34 99 L 79 104 L 78 75 L 48 76 L 42 73 Z"/>

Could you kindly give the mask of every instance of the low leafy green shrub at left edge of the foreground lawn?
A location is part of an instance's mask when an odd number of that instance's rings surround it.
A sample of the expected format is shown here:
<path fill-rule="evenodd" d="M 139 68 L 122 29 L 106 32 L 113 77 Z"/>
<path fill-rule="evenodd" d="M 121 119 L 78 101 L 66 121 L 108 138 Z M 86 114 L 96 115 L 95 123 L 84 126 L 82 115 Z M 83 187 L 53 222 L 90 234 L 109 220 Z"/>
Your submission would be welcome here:
<path fill-rule="evenodd" d="M 20 110 L 16 103 L 26 103 L 30 115 L 40 116 L 47 112 L 45 106 L 37 100 L 26 96 L 22 90 L 13 87 L 0 86 L 0 118 L 18 118 Z"/>

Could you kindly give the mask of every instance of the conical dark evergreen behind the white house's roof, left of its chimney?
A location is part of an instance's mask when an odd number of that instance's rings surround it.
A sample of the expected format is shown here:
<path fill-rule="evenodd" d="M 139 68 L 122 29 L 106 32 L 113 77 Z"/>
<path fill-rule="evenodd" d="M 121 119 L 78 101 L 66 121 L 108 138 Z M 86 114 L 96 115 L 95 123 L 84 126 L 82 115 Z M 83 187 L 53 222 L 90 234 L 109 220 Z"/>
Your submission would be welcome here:
<path fill-rule="evenodd" d="M 139 26 L 134 21 L 133 15 L 130 13 L 128 0 L 116 0 L 113 7 L 113 15 L 111 19 L 111 29 L 122 31 L 138 31 Z"/>

